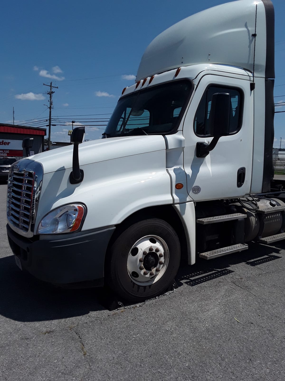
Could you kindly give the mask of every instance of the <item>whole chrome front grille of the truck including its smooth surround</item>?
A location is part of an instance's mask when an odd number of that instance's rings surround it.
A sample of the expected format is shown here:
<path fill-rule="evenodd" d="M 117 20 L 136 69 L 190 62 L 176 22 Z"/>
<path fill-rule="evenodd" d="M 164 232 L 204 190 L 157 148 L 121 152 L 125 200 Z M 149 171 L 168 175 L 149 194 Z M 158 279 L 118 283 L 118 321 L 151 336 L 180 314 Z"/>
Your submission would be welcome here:
<path fill-rule="evenodd" d="M 9 172 L 7 189 L 7 219 L 14 231 L 33 236 L 43 167 L 33 160 L 22 159 Z"/>

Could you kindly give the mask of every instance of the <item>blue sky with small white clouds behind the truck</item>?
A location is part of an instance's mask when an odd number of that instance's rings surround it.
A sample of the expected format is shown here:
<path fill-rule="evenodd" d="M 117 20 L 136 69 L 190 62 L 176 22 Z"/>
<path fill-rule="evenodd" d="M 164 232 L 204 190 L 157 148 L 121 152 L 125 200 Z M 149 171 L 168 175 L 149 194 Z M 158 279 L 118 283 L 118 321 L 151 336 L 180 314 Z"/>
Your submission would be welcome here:
<path fill-rule="evenodd" d="M 13 106 L 15 124 L 33 125 L 34 119 L 48 118 L 44 106 L 48 96 L 43 94 L 48 88 L 43 82 L 52 80 L 53 85 L 59 86 L 53 97 L 52 115 L 56 119 L 53 123 L 57 126 L 52 127 L 52 140 L 68 141 L 70 127 L 65 125 L 68 120 L 87 125 L 94 124 L 90 120 L 97 118 L 102 121 L 97 124 L 105 125 L 122 89 L 134 82 L 141 56 L 153 38 L 177 21 L 224 2 L 3 2 L 0 122 L 13 123 Z M 284 102 L 285 1 L 272 2 L 275 7 L 274 95 L 275 102 Z M 282 137 L 283 148 L 284 122 L 285 113 L 275 114 L 275 139 L 280 142 Z M 45 124 L 43 121 L 40 125 Z M 102 132 L 88 128 L 86 138 L 98 138 Z"/>

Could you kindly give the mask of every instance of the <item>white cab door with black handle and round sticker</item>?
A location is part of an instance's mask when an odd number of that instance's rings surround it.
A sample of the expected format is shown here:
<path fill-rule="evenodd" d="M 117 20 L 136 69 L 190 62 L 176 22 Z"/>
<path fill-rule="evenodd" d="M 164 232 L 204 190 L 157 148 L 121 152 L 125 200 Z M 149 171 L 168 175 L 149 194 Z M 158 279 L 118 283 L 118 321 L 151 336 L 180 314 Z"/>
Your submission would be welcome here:
<path fill-rule="evenodd" d="M 209 116 L 215 93 L 230 93 L 230 134 L 206 157 L 197 142 L 210 143 Z M 187 191 L 194 201 L 241 197 L 250 192 L 253 150 L 253 92 L 249 80 L 205 75 L 199 81 L 183 125 Z"/>

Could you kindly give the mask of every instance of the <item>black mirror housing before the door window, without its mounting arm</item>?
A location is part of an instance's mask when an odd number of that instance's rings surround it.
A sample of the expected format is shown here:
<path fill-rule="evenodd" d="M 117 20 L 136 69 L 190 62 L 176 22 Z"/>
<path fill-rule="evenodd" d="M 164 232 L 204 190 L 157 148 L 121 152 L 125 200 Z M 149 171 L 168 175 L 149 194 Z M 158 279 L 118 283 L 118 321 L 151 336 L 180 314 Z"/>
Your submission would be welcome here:
<path fill-rule="evenodd" d="M 230 104 L 229 93 L 215 93 L 212 96 L 210 111 L 210 135 L 226 136 L 230 132 Z"/>

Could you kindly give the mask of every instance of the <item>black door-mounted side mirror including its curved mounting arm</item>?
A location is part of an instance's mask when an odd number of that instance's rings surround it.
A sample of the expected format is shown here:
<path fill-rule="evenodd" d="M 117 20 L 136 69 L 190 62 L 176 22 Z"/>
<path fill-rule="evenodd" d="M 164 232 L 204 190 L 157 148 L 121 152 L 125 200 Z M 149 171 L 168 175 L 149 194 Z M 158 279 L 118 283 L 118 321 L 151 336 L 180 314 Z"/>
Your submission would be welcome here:
<path fill-rule="evenodd" d="M 221 136 L 230 133 L 230 106 L 231 96 L 229 93 L 215 93 L 211 100 L 209 120 L 209 132 L 213 136 L 210 144 L 198 142 L 196 144 L 196 156 L 206 157 L 215 148 Z"/>

